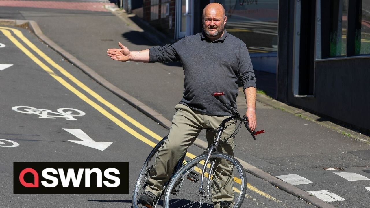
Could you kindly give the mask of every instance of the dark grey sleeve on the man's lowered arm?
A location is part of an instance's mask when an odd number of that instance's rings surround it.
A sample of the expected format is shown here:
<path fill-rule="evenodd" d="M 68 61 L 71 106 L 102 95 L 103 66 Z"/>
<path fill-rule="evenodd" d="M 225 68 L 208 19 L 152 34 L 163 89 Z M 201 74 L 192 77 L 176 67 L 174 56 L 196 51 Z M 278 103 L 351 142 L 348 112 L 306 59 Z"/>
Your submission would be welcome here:
<path fill-rule="evenodd" d="M 243 91 L 248 87 L 256 88 L 256 77 L 246 45 L 240 49 L 238 79 L 243 85 Z"/>

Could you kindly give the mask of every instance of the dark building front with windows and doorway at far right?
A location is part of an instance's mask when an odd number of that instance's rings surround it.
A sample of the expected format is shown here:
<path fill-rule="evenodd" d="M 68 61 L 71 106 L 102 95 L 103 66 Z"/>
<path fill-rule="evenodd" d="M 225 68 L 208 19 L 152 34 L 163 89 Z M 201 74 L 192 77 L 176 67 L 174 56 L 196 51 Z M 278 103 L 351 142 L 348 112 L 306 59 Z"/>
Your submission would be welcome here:
<path fill-rule="evenodd" d="M 279 8 L 277 100 L 370 130 L 370 1 Z"/>

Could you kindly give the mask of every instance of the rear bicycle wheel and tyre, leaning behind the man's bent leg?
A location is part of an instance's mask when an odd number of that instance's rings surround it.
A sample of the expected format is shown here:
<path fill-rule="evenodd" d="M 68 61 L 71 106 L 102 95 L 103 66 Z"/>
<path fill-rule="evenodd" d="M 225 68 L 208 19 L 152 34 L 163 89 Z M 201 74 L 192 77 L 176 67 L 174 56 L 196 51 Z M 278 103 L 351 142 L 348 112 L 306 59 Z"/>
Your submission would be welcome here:
<path fill-rule="evenodd" d="M 146 186 L 146 180 L 149 176 L 149 171 L 150 171 L 148 168 L 150 168 L 150 166 L 153 164 L 154 159 L 155 159 L 154 156 L 157 154 L 159 148 L 162 147 L 164 140 L 166 139 L 167 139 L 167 136 L 158 142 L 158 144 L 153 148 L 153 150 L 148 155 L 147 160 L 145 160 L 144 165 L 141 168 L 140 174 L 135 184 L 134 192 L 132 193 L 132 207 L 133 208 L 147 208 L 141 205 L 140 203 L 138 203 L 138 197 L 141 194 L 141 192 L 144 191 L 144 188 Z"/>

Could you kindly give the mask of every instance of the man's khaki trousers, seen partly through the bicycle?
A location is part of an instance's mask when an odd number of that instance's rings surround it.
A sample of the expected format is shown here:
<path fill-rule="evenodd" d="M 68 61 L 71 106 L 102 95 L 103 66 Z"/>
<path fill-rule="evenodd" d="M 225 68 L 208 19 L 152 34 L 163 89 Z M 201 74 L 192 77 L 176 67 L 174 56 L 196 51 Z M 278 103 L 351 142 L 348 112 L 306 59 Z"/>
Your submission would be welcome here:
<path fill-rule="evenodd" d="M 165 182 L 171 177 L 177 162 L 186 153 L 189 146 L 193 144 L 202 129 L 216 129 L 225 118 L 229 117 L 205 115 L 183 104 L 176 105 L 175 109 L 176 113 L 172 120 L 168 138 L 155 157 L 153 169 L 150 172 L 150 178 L 148 180 L 148 186 L 145 188 L 146 191 L 153 192 L 157 197 L 161 194 Z M 233 121 L 229 121 L 226 125 L 232 122 Z M 221 140 L 230 137 L 235 131 L 235 128 L 235 124 L 228 126 L 223 131 Z M 216 133 L 206 131 L 206 138 L 208 144 L 211 144 L 216 139 Z M 233 156 L 233 148 L 234 138 L 231 137 L 228 142 L 219 146 L 218 152 L 224 152 Z M 212 190 L 212 202 L 215 204 L 219 201 L 233 201 L 233 186 L 230 185 L 233 181 L 233 177 L 230 177 L 232 167 L 230 164 L 224 163 L 225 164 L 219 164 L 219 167 L 215 171 L 216 180 L 213 182 L 214 185 Z M 216 164 L 218 164 L 217 161 Z M 222 173 L 218 173 L 218 170 L 222 170 Z M 226 177 L 229 178 L 229 180 L 225 180 Z M 218 181 L 221 181 L 221 184 Z M 220 193 L 218 194 L 218 192 Z"/>

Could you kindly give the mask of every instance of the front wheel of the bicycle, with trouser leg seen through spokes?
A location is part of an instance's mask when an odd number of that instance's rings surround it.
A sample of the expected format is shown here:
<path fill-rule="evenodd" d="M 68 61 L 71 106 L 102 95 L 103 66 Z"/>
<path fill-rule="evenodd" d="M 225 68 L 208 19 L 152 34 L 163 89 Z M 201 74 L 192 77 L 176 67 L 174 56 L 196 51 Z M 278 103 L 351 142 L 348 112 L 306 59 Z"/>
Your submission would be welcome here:
<path fill-rule="evenodd" d="M 240 162 L 230 155 L 211 155 L 200 189 L 206 156 L 194 158 L 176 172 L 166 188 L 164 208 L 239 208 L 242 205 L 246 175 Z"/>

